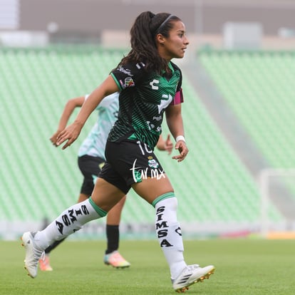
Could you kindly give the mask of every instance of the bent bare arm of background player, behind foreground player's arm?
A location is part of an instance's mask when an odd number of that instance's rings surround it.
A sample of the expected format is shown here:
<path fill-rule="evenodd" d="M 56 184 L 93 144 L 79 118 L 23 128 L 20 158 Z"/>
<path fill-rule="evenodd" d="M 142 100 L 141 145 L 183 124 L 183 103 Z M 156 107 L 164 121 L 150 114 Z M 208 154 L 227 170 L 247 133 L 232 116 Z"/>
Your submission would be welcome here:
<path fill-rule="evenodd" d="M 56 130 L 55 133 L 51 136 L 50 140 L 51 143 L 55 146 L 57 142 L 57 136 L 61 131 L 66 128 L 66 125 L 68 124 L 68 119 L 71 117 L 73 111 L 75 108 L 81 108 L 85 101 L 85 96 L 79 96 L 77 98 L 71 98 L 66 103 L 65 107 L 63 108 L 63 113 L 61 114 L 61 118 L 58 123 L 58 130 Z"/>

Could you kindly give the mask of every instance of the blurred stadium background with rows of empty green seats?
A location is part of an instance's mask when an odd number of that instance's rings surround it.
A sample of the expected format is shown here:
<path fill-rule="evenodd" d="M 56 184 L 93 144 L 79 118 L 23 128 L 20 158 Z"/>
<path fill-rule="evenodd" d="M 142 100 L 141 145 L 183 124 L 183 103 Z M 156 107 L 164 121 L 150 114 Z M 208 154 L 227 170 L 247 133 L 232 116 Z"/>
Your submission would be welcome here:
<path fill-rule="evenodd" d="M 294 237 L 295 1 L 0 0 L 0 239 L 41 229 L 76 202 L 78 147 L 97 114 L 66 151 L 49 138 L 66 101 L 128 52 L 146 10 L 180 16 L 191 41 L 175 61 L 190 154 L 177 164 L 157 152 L 184 237 Z M 153 219 L 130 192 L 121 237 L 153 237 Z M 104 222 L 72 237 L 104 238 Z"/>

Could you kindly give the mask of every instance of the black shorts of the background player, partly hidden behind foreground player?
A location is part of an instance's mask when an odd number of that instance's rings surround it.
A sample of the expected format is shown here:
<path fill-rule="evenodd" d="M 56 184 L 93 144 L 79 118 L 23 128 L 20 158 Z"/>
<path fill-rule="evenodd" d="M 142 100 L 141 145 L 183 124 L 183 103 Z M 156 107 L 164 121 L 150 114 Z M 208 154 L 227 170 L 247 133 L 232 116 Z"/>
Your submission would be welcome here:
<path fill-rule="evenodd" d="M 95 180 L 104 164 L 105 160 L 101 157 L 93 157 L 90 155 L 78 157 L 78 166 L 84 176 L 83 184 L 80 190 L 81 194 L 92 194 Z"/>

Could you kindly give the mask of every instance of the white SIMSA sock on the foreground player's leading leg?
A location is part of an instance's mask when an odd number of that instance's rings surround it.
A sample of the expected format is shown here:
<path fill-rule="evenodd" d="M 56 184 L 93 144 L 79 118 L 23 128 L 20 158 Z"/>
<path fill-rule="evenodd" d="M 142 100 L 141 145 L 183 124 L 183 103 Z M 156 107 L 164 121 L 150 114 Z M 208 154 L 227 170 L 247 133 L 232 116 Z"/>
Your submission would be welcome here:
<path fill-rule="evenodd" d="M 183 257 L 180 224 L 177 222 L 177 199 L 169 197 L 155 205 L 155 229 L 160 247 L 170 266 L 171 279 L 176 279 L 187 264 Z"/>

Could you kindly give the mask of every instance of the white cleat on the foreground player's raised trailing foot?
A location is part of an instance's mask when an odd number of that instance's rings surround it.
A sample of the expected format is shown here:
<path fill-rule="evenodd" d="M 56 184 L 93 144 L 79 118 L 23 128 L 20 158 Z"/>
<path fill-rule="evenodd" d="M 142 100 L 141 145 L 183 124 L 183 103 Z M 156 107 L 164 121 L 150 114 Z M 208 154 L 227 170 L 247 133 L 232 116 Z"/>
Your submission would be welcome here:
<path fill-rule="evenodd" d="M 24 260 L 25 269 L 28 271 L 28 275 L 31 278 L 35 278 L 37 276 L 38 271 L 38 260 L 43 256 L 44 252 L 40 249 L 37 249 L 34 237 L 35 234 L 33 232 L 25 232 L 21 240 L 23 243 L 21 244 L 26 248 L 26 259 Z"/>

